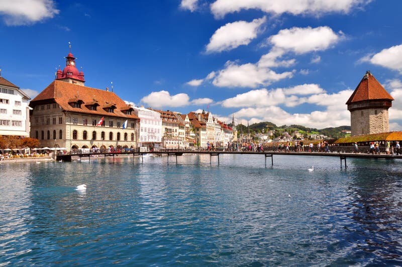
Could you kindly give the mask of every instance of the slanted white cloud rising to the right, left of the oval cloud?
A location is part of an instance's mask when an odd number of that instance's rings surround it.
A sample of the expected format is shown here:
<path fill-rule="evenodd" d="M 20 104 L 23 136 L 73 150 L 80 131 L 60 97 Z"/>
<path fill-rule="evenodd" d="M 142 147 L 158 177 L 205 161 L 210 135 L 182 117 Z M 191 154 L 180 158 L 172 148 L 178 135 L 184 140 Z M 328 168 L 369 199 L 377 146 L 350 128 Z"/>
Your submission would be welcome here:
<path fill-rule="evenodd" d="M 248 45 L 257 37 L 257 32 L 266 19 L 255 19 L 252 22 L 238 21 L 228 23 L 219 28 L 207 45 L 207 53 L 232 50 L 241 45 Z"/>

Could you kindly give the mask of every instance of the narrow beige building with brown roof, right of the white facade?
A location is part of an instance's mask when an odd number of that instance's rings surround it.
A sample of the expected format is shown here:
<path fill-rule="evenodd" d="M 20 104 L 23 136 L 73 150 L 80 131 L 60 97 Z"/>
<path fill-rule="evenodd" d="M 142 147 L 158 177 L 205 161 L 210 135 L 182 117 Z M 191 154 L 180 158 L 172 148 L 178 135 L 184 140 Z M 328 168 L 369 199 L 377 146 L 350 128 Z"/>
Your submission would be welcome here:
<path fill-rule="evenodd" d="M 179 139 L 179 121 L 173 111 L 152 109 L 160 113 L 162 119 L 162 146 L 165 149 L 183 148 L 183 141 Z"/>

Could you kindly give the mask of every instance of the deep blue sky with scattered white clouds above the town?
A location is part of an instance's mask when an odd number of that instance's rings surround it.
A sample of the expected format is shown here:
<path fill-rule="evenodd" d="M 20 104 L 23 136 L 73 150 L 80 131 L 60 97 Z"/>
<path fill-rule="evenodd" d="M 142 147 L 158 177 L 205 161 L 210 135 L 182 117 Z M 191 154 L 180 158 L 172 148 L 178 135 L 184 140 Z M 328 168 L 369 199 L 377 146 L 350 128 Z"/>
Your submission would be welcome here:
<path fill-rule="evenodd" d="M 85 85 L 227 123 L 350 125 L 367 70 L 402 130 L 400 0 L 0 0 L 2 76 L 35 97 L 71 52 Z"/>

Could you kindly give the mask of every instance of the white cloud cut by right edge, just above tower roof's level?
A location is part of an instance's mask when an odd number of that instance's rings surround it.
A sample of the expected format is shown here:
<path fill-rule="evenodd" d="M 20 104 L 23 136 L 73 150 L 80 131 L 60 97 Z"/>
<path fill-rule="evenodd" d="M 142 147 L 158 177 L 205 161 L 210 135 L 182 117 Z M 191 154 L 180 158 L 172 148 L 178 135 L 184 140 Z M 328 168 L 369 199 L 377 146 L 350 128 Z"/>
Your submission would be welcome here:
<path fill-rule="evenodd" d="M 367 59 L 366 57 L 362 59 L 362 61 L 364 60 L 402 73 L 402 45 L 383 49 L 381 52 L 372 56 L 371 59 Z"/>

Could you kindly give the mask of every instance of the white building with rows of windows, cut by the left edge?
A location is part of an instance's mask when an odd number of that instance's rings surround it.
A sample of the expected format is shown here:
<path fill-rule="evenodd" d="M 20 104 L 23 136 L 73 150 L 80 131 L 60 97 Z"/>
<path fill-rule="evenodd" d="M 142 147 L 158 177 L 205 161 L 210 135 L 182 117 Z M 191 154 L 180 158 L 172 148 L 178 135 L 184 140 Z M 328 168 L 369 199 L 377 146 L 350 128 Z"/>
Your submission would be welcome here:
<path fill-rule="evenodd" d="M 29 137 L 29 100 L 0 70 L 0 136 Z"/>

